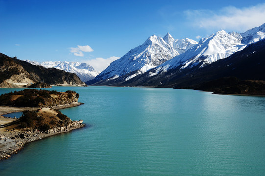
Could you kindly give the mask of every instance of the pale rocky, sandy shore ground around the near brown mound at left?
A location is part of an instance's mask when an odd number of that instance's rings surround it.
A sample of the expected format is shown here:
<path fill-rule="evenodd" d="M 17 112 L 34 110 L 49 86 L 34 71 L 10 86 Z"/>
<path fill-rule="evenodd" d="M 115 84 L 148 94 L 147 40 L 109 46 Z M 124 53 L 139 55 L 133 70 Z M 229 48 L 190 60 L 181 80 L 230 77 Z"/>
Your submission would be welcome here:
<path fill-rule="evenodd" d="M 64 109 L 79 106 L 82 103 L 74 102 L 65 105 L 58 105 L 49 107 L 51 109 Z M 24 110 L 37 110 L 38 108 L 32 107 L 12 107 L 12 106 L 0 106 L 0 121 L 5 123 L 9 123 L 15 121 L 17 119 L 6 118 L 1 115 L 8 114 L 12 112 L 21 112 Z M 19 129 L 7 129 L 4 127 L 0 128 L 0 160 L 8 159 L 12 154 L 16 154 L 19 150 L 23 148 L 23 146 L 29 142 L 33 142 L 36 140 L 43 139 L 45 137 L 57 135 L 64 132 L 70 132 L 72 130 L 82 128 L 85 124 L 83 124 L 83 120 L 72 121 L 70 124 L 64 127 L 57 127 L 48 129 L 45 131 L 39 130 L 19 130 Z"/>

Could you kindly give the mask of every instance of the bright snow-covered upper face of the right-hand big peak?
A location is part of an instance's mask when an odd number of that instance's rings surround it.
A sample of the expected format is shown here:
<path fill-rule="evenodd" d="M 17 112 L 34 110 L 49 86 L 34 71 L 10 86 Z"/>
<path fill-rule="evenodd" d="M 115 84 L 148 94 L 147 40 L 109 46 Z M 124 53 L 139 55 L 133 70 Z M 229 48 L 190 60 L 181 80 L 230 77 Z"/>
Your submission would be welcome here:
<path fill-rule="evenodd" d="M 227 33 L 221 30 L 210 37 L 202 38 L 197 45 L 161 64 L 150 75 L 154 76 L 158 72 L 165 72 L 176 67 L 180 67 L 180 69 L 196 65 L 203 67 L 206 64 L 226 58 L 245 48 L 246 45 L 241 43 L 242 38 L 236 32 Z"/>

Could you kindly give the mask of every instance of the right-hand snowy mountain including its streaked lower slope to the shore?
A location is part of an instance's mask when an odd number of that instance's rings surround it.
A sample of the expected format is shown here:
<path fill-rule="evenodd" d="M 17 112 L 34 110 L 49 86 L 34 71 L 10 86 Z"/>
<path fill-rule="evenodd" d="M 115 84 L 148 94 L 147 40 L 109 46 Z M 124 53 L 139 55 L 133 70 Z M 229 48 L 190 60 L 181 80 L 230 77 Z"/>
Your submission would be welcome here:
<path fill-rule="evenodd" d="M 186 52 L 120 85 L 174 85 L 179 81 L 178 79 L 182 79 L 187 75 L 194 77 L 197 70 L 208 64 L 228 58 L 230 55 L 238 53 L 238 51 L 241 52 L 249 44 L 256 44 L 258 41 L 265 40 L 264 34 L 265 24 L 241 34 L 236 32 L 227 33 L 221 30 L 207 38 L 201 39 L 197 45 L 194 45 Z M 255 51 L 253 53 L 255 53 Z M 226 62 L 229 62 L 229 60 Z M 227 64 L 227 66 L 230 66 L 230 64 Z"/>

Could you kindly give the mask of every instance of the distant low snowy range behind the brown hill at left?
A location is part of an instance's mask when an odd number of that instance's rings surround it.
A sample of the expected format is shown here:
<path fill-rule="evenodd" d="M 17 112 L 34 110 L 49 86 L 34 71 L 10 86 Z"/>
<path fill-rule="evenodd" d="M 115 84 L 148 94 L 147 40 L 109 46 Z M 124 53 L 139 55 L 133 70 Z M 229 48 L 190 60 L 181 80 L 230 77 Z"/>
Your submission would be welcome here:
<path fill-rule="evenodd" d="M 57 68 L 66 72 L 75 73 L 83 82 L 89 81 L 95 78 L 100 72 L 96 71 L 92 66 L 81 62 L 67 62 L 67 61 L 29 61 L 34 65 L 40 65 L 45 68 Z"/>

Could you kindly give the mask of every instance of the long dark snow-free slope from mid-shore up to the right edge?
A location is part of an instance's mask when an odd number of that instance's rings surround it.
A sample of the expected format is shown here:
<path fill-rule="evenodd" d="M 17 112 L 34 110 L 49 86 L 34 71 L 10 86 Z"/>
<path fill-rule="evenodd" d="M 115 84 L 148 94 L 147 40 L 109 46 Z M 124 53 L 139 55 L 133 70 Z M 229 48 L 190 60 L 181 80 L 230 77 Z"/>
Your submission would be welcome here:
<path fill-rule="evenodd" d="M 228 58 L 220 59 L 199 69 L 199 65 L 185 69 L 170 69 L 149 77 L 153 70 L 119 86 L 158 86 L 196 89 L 201 83 L 224 77 L 241 80 L 265 80 L 265 39 L 249 44 Z M 209 90 L 210 91 L 210 90 Z"/>

